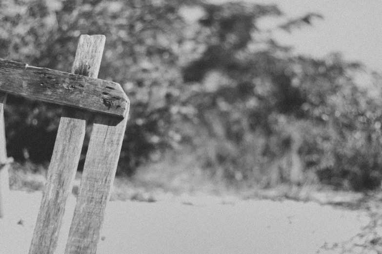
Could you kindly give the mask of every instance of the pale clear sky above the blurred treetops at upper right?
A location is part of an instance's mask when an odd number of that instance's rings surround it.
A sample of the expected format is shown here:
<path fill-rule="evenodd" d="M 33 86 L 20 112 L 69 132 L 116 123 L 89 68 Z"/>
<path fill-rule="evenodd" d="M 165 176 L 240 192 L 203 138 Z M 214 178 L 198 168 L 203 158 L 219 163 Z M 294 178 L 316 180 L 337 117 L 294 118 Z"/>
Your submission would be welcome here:
<path fill-rule="evenodd" d="M 221 3 L 225 0 L 209 0 Z M 322 57 L 341 52 L 344 59 L 364 63 L 382 73 L 382 0 L 245 0 L 259 4 L 277 4 L 287 17 L 299 17 L 317 12 L 324 19 L 316 19 L 313 26 L 294 30 L 291 34 L 279 31 L 274 37 L 282 44 L 295 47 L 295 53 Z M 274 26 L 262 20 L 263 28 Z"/>

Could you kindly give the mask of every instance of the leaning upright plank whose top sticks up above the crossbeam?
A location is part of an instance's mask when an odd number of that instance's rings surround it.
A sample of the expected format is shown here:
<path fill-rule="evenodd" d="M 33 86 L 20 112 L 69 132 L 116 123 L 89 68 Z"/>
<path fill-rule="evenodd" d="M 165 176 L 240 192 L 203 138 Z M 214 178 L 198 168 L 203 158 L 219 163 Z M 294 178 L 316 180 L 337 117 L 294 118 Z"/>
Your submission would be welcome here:
<path fill-rule="evenodd" d="M 97 77 L 104 43 L 105 36 L 80 36 L 72 72 Z M 66 200 L 80 160 L 86 115 L 82 110 L 63 109 L 29 254 L 51 254 L 56 249 Z"/>

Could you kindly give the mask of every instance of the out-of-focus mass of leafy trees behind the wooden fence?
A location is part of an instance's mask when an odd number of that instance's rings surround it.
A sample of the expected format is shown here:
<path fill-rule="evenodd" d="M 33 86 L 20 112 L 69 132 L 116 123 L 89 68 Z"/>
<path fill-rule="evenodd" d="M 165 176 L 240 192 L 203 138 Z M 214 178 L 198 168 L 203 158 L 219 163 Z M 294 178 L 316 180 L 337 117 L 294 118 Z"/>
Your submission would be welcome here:
<path fill-rule="evenodd" d="M 198 22 L 181 16 L 191 7 Z M 269 16 L 283 14 L 276 5 L 201 0 L 1 0 L 0 57 L 69 71 L 78 37 L 105 35 L 99 78 L 120 83 L 131 100 L 120 173 L 190 145 L 200 166 L 232 181 L 261 182 L 271 164 L 294 162 L 304 169 L 293 172 L 330 184 L 375 186 L 382 101 L 353 81 L 362 66 L 339 54 L 293 56 L 257 26 Z M 10 96 L 5 113 L 10 155 L 49 160 L 60 107 Z M 305 172 L 288 170 L 275 179 L 302 181 Z"/>

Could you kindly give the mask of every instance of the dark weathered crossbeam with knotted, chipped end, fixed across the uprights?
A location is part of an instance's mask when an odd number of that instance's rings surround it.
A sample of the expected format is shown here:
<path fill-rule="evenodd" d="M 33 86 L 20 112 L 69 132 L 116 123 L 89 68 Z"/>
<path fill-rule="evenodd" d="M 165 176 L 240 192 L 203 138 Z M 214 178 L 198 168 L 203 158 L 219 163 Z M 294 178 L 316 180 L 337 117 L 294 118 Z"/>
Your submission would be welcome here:
<path fill-rule="evenodd" d="M 4 59 L 0 59 L 0 91 L 120 117 L 130 106 L 118 83 Z"/>

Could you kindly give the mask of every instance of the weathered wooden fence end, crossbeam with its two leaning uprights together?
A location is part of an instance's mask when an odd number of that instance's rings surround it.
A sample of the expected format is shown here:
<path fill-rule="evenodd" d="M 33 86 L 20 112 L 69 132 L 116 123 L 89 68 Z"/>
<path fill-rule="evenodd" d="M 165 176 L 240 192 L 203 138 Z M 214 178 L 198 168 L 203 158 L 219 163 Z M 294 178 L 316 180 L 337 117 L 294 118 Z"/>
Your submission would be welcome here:
<path fill-rule="evenodd" d="M 96 253 L 129 111 L 121 86 L 97 79 L 104 43 L 105 36 L 80 36 L 72 73 L 0 60 L 0 97 L 9 92 L 64 105 L 29 254 L 55 252 L 89 111 L 93 129 L 65 253 Z"/>

